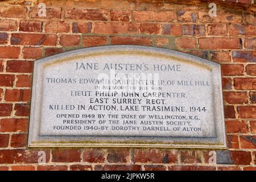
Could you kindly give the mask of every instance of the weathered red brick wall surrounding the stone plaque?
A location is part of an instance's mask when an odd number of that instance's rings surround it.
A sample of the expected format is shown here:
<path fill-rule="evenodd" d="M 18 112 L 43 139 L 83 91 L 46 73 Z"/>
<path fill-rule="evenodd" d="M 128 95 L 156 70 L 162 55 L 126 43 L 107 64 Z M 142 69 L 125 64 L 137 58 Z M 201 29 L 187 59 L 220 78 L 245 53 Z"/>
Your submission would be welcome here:
<path fill-rule="evenodd" d="M 255 6 L 205 1 L 0 2 L 0 170 L 255 170 Z M 230 1 L 228 1 L 230 2 Z M 253 3 L 253 1 L 238 1 Z M 189 3 L 189 4 L 187 4 Z M 222 65 L 228 150 L 27 147 L 33 61 L 91 46 L 138 44 L 174 49 Z M 38 151 L 46 164 L 38 164 Z"/>

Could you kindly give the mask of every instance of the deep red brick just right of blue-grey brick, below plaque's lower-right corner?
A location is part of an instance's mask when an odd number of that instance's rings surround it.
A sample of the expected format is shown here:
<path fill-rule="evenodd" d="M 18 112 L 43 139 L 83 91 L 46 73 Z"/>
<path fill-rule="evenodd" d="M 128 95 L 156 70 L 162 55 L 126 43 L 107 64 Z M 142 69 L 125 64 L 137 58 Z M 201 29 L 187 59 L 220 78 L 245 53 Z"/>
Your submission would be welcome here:
<path fill-rule="evenodd" d="M 237 165 L 250 165 L 251 152 L 247 151 L 229 151 L 230 158 L 233 164 Z"/>

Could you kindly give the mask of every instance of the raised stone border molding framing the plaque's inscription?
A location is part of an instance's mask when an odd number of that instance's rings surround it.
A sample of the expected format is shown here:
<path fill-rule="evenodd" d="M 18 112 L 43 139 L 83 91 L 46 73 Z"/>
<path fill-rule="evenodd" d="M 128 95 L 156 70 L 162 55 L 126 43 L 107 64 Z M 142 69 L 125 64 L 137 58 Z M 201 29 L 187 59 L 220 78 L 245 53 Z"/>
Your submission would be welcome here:
<path fill-rule="evenodd" d="M 187 138 L 171 137 L 172 140 L 155 137 L 154 142 L 145 142 L 147 137 L 52 137 L 39 134 L 40 103 L 42 96 L 43 69 L 52 64 L 60 64 L 64 61 L 82 59 L 88 56 L 102 56 L 114 54 L 133 54 L 164 57 L 197 64 L 212 71 L 213 75 L 213 106 L 216 137 L 212 138 Z M 147 46 L 98 46 L 76 49 L 57 55 L 36 60 L 32 81 L 32 97 L 30 110 L 30 127 L 28 135 L 28 147 L 154 147 L 154 148 L 226 148 L 226 133 L 224 122 L 224 105 L 221 86 L 221 66 L 200 57 L 186 53 L 172 51 L 170 49 Z M 217 127 L 218 126 L 218 127 Z"/>

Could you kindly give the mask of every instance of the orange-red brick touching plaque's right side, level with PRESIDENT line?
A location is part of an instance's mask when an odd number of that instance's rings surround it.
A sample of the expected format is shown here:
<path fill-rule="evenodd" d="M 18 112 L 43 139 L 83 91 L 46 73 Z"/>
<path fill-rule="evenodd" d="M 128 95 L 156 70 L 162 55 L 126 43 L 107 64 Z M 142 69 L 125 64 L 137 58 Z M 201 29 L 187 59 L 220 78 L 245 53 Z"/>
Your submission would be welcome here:
<path fill-rule="evenodd" d="M 248 126 L 245 121 L 226 121 L 227 133 L 247 133 Z"/>

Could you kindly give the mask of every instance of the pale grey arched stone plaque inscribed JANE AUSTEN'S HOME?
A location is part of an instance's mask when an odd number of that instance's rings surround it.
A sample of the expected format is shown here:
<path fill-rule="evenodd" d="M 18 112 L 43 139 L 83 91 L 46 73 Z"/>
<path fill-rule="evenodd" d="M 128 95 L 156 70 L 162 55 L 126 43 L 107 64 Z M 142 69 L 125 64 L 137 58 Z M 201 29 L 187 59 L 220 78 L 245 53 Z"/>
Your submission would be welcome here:
<path fill-rule="evenodd" d="M 30 147 L 224 148 L 221 69 L 143 46 L 35 61 Z"/>

